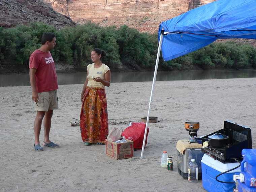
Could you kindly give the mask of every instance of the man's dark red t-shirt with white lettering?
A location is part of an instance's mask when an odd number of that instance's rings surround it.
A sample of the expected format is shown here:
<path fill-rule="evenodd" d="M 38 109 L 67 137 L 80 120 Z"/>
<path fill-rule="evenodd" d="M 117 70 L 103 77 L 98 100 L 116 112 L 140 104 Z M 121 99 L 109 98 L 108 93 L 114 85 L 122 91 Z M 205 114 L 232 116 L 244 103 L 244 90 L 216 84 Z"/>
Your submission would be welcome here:
<path fill-rule="evenodd" d="M 29 58 L 29 68 L 36 68 L 36 91 L 38 93 L 58 89 L 57 74 L 50 53 L 34 51 Z"/>

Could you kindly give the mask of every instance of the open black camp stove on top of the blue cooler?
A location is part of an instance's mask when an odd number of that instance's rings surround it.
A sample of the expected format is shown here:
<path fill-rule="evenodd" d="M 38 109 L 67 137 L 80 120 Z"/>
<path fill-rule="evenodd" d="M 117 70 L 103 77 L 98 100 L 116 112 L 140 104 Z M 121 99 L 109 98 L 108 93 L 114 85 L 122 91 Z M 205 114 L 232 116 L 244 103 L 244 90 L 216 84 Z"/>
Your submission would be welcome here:
<path fill-rule="evenodd" d="M 210 133 L 202 138 L 208 138 L 208 136 L 217 132 L 229 136 L 227 146 L 222 148 L 206 146 L 202 148 L 202 151 L 222 163 L 236 162 L 236 159 L 242 161 L 242 150 L 252 149 L 252 134 L 249 127 L 238 125 L 231 121 L 224 121 L 224 129 Z"/>

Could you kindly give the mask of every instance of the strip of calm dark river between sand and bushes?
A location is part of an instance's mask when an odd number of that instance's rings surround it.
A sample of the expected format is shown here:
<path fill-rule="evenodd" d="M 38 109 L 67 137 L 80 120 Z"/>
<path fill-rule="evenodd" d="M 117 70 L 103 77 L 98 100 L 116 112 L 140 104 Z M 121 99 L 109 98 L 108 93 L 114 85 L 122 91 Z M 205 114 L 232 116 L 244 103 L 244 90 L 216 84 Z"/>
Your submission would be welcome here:
<path fill-rule="evenodd" d="M 58 84 L 83 84 L 85 72 L 57 73 Z M 111 72 L 111 83 L 152 81 L 154 71 L 147 72 Z M 197 70 L 197 71 L 158 71 L 156 81 L 223 79 L 256 77 L 255 69 L 244 70 Z M 29 74 L 0 74 L 0 87 L 28 86 Z"/>

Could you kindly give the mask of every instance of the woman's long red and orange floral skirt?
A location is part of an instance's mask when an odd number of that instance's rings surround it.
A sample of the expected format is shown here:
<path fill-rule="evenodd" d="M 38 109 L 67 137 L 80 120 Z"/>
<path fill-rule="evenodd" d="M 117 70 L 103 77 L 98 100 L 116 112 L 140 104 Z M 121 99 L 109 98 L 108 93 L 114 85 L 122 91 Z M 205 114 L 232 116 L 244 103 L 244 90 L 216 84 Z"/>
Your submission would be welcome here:
<path fill-rule="evenodd" d="M 86 87 L 80 114 L 80 130 L 84 142 L 105 143 L 108 135 L 105 89 Z"/>

